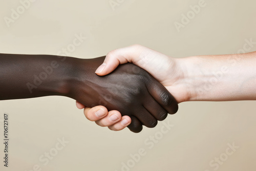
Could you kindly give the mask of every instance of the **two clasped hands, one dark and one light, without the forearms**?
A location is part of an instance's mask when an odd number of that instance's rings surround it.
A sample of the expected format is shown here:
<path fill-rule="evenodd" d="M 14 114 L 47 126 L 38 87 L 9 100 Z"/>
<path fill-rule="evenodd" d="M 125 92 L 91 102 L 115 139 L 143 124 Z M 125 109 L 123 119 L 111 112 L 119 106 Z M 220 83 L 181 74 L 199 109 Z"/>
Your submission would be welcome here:
<path fill-rule="evenodd" d="M 155 127 L 168 113 L 178 111 L 178 102 L 166 89 L 176 77 L 168 73 L 175 67 L 170 59 L 139 45 L 112 51 L 106 58 L 87 59 L 78 65 L 79 81 L 72 88 L 82 89 L 72 91 L 70 97 L 77 100 L 79 109 L 85 108 L 89 120 L 111 130 L 128 125 L 138 133 L 142 125 Z"/>

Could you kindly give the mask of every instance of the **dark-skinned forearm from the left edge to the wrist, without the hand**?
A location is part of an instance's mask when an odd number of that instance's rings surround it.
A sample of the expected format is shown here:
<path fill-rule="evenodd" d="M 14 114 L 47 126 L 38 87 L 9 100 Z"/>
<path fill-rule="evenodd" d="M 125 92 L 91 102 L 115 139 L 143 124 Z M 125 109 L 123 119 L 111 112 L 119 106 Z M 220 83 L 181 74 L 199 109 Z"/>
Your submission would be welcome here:
<path fill-rule="evenodd" d="M 67 95 L 77 58 L 0 54 L 0 100 Z"/>

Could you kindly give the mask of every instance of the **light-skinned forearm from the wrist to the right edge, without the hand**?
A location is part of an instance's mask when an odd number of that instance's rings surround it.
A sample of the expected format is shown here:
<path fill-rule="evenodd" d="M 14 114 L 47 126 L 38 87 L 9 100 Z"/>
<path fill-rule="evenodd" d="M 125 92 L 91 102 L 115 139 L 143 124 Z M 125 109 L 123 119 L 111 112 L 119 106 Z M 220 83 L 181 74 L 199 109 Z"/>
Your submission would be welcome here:
<path fill-rule="evenodd" d="M 256 52 L 177 59 L 188 101 L 256 100 Z"/>

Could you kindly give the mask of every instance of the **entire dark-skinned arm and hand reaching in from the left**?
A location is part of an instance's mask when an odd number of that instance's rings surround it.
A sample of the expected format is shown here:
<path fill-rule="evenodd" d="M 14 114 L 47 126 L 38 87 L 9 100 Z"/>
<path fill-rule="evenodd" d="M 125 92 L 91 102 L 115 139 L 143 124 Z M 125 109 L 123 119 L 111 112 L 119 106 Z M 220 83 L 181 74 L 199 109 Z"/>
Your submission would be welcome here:
<path fill-rule="evenodd" d="M 102 105 L 130 116 L 128 127 L 135 133 L 142 124 L 154 127 L 167 112 L 177 112 L 176 100 L 162 84 L 131 63 L 97 76 L 94 72 L 104 58 L 0 54 L 0 100 L 67 96 L 82 105 Z"/>

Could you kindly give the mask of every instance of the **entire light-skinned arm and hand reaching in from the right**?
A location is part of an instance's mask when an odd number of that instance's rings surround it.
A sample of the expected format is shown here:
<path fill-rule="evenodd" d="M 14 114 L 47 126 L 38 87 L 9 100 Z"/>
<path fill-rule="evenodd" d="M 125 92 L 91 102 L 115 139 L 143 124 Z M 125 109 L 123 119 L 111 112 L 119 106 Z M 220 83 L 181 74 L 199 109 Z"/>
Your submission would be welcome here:
<path fill-rule="evenodd" d="M 118 65 L 127 62 L 148 71 L 173 94 L 178 103 L 256 100 L 256 52 L 173 58 L 140 45 L 133 45 L 108 53 L 96 73 L 101 76 L 109 74 Z M 82 109 L 85 106 L 78 102 L 77 107 Z M 98 108 L 107 111 L 103 106 L 92 109 L 86 107 L 84 115 L 89 119 L 93 118 L 94 111 Z M 106 112 L 106 118 L 94 118 L 94 121 L 97 123 L 107 120 L 108 115 Z M 109 126 L 114 131 L 125 127 L 120 121 L 104 126 Z"/>

